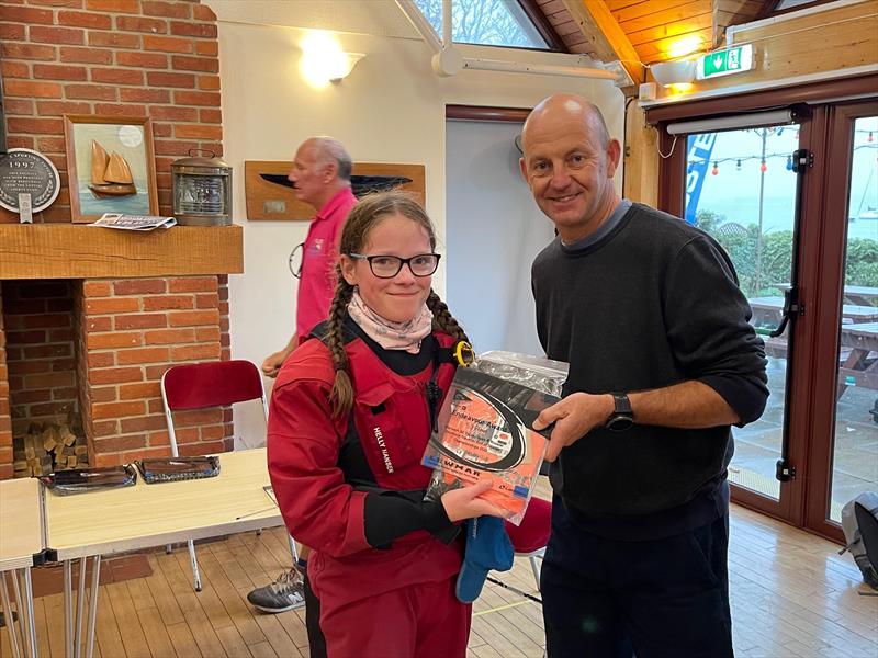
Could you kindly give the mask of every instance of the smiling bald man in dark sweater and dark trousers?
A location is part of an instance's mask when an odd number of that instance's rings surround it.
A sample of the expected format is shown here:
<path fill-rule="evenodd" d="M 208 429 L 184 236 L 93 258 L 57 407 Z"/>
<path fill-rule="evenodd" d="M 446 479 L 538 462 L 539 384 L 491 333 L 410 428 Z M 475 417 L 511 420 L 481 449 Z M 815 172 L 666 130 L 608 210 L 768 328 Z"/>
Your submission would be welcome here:
<path fill-rule="evenodd" d="M 765 352 L 707 234 L 620 200 L 620 146 L 592 103 L 542 101 L 521 173 L 558 238 L 533 262 L 540 342 L 570 363 L 547 458 L 550 658 L 732 655 L 730 427 L 756 420 Z"/>

